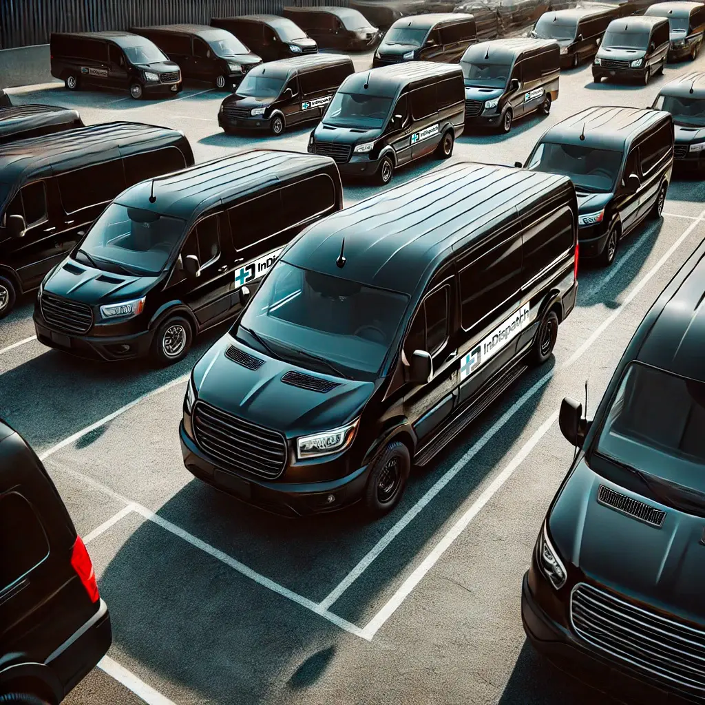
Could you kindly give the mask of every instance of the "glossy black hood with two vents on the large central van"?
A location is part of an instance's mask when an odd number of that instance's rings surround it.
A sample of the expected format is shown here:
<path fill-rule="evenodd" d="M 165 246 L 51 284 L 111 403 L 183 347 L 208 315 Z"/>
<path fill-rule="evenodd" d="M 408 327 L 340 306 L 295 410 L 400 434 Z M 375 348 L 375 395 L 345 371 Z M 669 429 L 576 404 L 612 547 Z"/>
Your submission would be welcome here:
<path fill-rule="evenodd" d="M 233 362 L 225 356 L 231 345 L 264 360 L 264 364 L 253 371 Z M 336 387 L 321 393 L 286 384 L 281 378 L 290 371 L 335 382 Z M 331 377 L 296 367 L 247 348 L 229 333 L 197 362 L 193 379 L 199 399 L 281 431 L 288 438 L 328 431 L 353 420 L 374 392 L 373 382 Z"/>

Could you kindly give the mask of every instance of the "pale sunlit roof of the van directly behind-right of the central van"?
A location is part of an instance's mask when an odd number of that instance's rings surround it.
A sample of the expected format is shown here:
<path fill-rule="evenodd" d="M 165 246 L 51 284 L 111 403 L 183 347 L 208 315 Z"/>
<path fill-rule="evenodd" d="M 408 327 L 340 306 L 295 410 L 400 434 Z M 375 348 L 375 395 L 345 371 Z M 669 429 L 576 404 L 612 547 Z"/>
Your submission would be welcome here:
<path fill-rule="evenodd" d="M 622 151 L 644 130 L 661 121 L 670 121 L 662 110 L 599 106 L 588 108 L 548 128 L 541 142 L 584 145 L 592 149 Z M 580 139 L 584 135 L 584 140 Z"/>

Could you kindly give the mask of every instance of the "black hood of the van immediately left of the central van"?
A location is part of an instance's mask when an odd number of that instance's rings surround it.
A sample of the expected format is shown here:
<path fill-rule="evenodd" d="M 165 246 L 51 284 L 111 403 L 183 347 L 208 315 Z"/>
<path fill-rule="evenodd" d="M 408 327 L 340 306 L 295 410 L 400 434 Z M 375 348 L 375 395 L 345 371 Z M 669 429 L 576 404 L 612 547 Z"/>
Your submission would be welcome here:
<path fill-rule="evenodd" d="M 44 291 L 90 306 L 118 303 L 144 296 L 158 276 L 123 276 L 93 269 L 68 257 L 44 282 Z"/>

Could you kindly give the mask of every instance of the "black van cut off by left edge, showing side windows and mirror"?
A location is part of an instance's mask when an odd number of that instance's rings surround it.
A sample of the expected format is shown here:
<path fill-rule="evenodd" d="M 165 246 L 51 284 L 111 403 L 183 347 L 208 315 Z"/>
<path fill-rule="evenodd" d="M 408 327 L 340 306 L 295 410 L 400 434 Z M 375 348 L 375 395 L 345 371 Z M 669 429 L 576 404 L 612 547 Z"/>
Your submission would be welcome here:
<path fill-rule="evenodd" d="M 183 133 L 105 123 L 0 145 L 0 318 L 126 186 L 193 164 Z"/>

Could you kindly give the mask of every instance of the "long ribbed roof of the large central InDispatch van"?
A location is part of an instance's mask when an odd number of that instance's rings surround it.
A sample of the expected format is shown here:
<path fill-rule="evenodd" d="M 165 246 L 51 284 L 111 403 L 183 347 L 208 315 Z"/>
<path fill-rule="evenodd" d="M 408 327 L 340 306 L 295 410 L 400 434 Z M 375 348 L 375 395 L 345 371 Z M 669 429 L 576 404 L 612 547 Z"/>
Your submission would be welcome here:
<path fill-rule="evenodd" d="M 412 294 L 453 249 L 560 190 L 573 193 L 568 177 L 461 161 L 314 223 L 282 257 L 322 274 Z M 341 271 L 336 258 L 343 238 Z"/>

